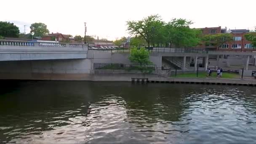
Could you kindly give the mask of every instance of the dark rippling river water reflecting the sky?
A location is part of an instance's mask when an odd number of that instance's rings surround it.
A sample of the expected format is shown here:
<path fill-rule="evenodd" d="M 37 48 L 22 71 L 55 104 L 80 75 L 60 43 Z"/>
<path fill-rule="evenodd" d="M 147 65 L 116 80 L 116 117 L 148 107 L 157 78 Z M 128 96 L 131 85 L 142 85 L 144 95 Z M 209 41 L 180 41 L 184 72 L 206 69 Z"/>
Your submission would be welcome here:
<path fill-rule="evenodd" d="M 256 89 L 4 81 L 0 142 L 256 143 Z"/>

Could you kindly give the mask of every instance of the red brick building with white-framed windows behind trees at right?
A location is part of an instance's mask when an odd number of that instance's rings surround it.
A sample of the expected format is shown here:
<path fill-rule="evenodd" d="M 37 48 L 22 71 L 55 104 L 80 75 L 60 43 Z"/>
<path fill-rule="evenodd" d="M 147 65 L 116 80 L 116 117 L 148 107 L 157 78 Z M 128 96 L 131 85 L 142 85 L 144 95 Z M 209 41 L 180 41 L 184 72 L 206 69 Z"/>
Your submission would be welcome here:
<path fill-rule="evenodd" d="M 219 34 L 219 33 L 230 33 L 233 35 L 233 41 L 220 45 L 216 47 L 216 45 L 205 44 L 202 43 L 199 45 L 199 48 L 205 48 L 207 50 L 220 50 L 220 51 L 252 51 L 251 42 L 247 41 L 245 35 L 250 32 L 248 29 L 229 29 L 227 27 L 205 27 L 201 28 L 203 35 L 212 35 L 212 34 Z"/>

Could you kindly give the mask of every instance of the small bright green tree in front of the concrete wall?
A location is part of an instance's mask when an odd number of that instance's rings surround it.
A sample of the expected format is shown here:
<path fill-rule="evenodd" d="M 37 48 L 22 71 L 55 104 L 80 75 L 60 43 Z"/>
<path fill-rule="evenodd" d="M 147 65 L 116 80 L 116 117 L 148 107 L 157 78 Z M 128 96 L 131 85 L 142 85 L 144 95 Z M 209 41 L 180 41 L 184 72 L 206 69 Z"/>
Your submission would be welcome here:
<path fill-rule="evenodd" d="M 152 64 L 149 61 L 149 52 L 145 48 L 132 48 L 129 56 L 130 61 L 141 65 Z"/>

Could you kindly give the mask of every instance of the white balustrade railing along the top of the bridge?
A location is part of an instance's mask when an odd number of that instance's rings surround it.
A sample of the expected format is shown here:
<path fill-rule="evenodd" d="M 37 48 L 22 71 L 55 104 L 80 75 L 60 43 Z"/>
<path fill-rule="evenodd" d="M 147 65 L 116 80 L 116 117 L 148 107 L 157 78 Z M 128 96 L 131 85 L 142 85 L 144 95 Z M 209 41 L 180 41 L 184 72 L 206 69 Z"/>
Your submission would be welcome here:
<path fill-rule="evenodd" d="M 40 46 L 40 47 L 71 47 L 71 48 L 86 48 L 88 44 L 82 43 L 56 43 L 56 42 L 37 42 L 37 41 L 22 41 L 22 40 L 0 40 L 1 45 L 11 46 Z"/>

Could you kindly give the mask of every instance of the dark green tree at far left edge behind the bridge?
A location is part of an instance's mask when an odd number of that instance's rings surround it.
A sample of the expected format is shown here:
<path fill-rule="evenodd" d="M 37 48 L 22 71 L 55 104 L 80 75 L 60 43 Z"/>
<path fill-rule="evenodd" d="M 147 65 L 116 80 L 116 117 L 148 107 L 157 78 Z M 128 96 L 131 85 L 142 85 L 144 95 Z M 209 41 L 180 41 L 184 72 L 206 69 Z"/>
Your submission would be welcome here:
<path fill-rule="evenodd" d="M 10 22 L 0 21 L 0 35 L 3 37 L 19 37 L 19 27 Z"/>

